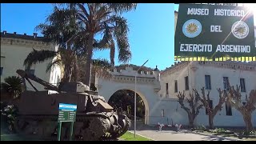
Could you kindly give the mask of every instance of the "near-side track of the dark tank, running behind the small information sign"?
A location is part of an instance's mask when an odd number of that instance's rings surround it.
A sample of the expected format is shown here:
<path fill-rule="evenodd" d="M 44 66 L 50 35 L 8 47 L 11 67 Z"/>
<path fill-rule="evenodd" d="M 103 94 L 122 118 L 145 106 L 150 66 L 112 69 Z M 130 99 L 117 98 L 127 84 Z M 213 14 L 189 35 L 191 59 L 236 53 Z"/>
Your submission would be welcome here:
<path fill-rule="evenodd" d="M 57 140 L 58 115 L 19 115 L 16 129 L 22 134 L 39 135 L 40 138 Z M 101 114 L 77 114 L 74 122 L 74 140 L 76 141 L 108 141 L 125 134 L 130 127 L 130 119 L 125 118 L 127 125 L 110 134 L 108 118 Z M 62 122 L 62 140 L 68 140 L 70 122 Z"/>

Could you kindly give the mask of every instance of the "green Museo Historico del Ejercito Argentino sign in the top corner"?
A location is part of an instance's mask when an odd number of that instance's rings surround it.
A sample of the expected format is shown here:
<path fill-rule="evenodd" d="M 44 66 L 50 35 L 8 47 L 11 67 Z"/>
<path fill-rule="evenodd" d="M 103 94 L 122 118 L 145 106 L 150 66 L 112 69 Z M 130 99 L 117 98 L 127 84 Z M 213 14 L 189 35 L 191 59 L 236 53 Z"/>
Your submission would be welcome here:
<path fill-rule="evenodd" d="M 178 61 L 256 61 L 253 11 L 181 3 L 174 46 Z"/>

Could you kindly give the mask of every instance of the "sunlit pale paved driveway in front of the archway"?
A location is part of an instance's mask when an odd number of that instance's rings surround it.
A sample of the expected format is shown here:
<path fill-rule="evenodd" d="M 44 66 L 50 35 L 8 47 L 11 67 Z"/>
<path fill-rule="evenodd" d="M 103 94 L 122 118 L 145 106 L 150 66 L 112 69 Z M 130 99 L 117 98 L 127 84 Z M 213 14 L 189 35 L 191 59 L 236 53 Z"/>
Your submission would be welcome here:
<path fill-rule="evenodd" d="M 130 132 L 134 133 L 134 130 Z M 212 138 L 199 134 L 190 134 L 185 132 L 176 132 L 173 130 L 136 130 L 136 134 L 140 134 L 156 141 L 228 141 L 220 138 Z"/>

